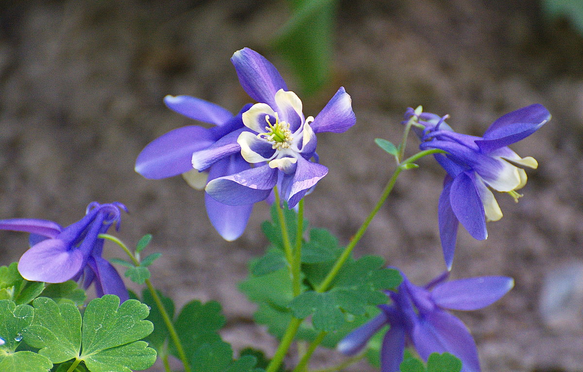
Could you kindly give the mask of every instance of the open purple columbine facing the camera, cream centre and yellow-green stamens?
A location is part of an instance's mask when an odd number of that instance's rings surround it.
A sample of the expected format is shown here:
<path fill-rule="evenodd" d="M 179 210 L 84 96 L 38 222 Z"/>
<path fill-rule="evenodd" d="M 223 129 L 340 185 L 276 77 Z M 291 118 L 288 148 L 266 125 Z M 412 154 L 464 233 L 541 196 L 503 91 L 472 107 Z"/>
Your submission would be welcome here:
<path fill-rule="evenodd" d="M 305 118 L 300 99 L 264 56 L 244 48 L 231 62 L 241 86 L 259 102 L 243 113 L 245 130 L 237 137 L 241 155 L 254 166 L 210 180 L 206 192 L 220 203 L 244 206 L 265 200 L 277 185 L 282 201 L 292 208 L 328 173 L 318 164 L 315 133 L 345 132 L 356 122 L 350 95 L 340 88 L 316 118 Z M 230 149 L 199 151 L 192 164 L 201 169 L 224 154 Z"/>

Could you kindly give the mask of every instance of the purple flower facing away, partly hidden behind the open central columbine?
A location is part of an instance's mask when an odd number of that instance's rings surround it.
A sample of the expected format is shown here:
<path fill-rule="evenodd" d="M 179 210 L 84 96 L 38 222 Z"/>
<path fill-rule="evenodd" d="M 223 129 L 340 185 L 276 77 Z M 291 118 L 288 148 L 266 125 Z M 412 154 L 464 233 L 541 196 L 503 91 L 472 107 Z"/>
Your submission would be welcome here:
<path fill-rule="evenodd" d="M 245 105 L 233 116 L 226 109 L 188 95 L 167 95 L 164 103 L 168 108 L 196 121 L 214 124 L 214 127 L 185 126 L 171 130 L 153 140 L 142 150 L 136 160 L 135 171 L 145 178 L 161 179 L 184 175 L 188 183 L 203 189 L 208 180 L 228 176 L 249 169 L 250 165 L 241 156 L 237 144 L 238 135 L 245 130 L 241 114 L 251 105 Z M 218 150 L 217 150 L 218 149 Z M 217 151 L 222 151 L 217 154 Z M 208 154 L 203 165 L 193 169 L 192 155 Z M 205 193 L 205 206 L 211 224 L 226 240 L 235 240 L 245 230 L 251 214 L 252 204 L 227 206 Z"/>

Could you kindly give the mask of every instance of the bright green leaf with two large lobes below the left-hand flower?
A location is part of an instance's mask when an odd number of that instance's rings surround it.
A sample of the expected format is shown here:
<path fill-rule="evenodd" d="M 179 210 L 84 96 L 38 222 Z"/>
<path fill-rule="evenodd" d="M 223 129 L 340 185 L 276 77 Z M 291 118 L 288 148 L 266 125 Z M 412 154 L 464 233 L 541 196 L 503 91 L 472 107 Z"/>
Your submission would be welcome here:
<path fill-rule="evenodd" d="M 156 350 L 138 341 L 152 332 L 148 307 L 138 300 L 106 295 L 89 302 L 81 317 L 71 303 L 47 297 L 34 300 L 34 321 L 23 336 L 53 363 L 82 360 L 91 372 L 143 370 L 156 361 Z"/>

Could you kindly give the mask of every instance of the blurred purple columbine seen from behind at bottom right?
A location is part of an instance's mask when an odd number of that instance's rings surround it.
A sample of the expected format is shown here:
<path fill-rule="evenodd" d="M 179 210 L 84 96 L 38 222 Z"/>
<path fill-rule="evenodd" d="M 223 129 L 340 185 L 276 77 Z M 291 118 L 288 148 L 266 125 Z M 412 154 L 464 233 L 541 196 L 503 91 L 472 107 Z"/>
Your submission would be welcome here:
<path fill-rule="evenodd" d="M 401 273 L 403 282 L 387 291 L 392 304 L 380 305 L 381 313 L 338 343 L 338 350 L 353 356 L 385 325 L 382 340 L 381 371 L 399 371 L 403 350 L 413 345 L 427 362 L 431 353 L 448 352 L 462 361 L 462 372 L 479 372 L 476 343 L 461 320 L 445 311 L 477 310 L 496 302 L 514 286 L 508 277 L 477 277 L 444 282 L 449 271 L 429 284 L 417 286 Z"/>

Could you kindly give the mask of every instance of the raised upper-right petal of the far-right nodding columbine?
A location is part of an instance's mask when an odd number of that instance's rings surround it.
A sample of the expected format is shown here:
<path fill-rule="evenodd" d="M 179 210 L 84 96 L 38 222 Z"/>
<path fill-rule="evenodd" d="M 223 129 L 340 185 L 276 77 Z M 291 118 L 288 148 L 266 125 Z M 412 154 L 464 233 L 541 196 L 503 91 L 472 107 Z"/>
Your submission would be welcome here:
<path fill-rule="evenodd" d="M 519 108 L 497 119 L 476 144 L 484 153 L 518 142 L 535 133 L 547 121 L 550 112 L 540 104 Z"/>

